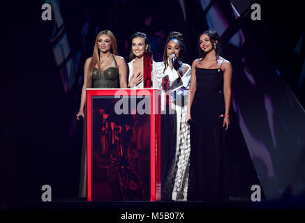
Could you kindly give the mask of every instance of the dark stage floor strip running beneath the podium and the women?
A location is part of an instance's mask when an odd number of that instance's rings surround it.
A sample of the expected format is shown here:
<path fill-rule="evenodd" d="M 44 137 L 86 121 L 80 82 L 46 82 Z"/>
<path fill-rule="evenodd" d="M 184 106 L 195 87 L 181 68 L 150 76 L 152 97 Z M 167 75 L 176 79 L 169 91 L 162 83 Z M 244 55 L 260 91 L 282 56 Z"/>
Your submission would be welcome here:
<path fill-rule="evenodd" d="M 0 209 L 103 209 L 103 210 L 204 210 L 204 209 L 305 209 L 305 197 L 281 201 L 237 199 L 230 201 L 9 201 Z"/>

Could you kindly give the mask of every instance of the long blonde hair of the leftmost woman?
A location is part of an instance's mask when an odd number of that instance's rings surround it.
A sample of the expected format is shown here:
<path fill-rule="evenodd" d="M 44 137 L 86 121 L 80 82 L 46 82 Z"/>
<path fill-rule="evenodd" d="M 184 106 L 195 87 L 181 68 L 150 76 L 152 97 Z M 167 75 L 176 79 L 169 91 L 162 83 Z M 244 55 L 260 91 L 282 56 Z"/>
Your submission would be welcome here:
<path fill-rule="evenodd" d="M 100 70 L 100 72 L 102 71 L 101 68 L 101 61 L 100 61 L 100 51 L 98 50 L 98 38 L 103 35 L 106 34 L 110 37 L 111 40 L 111 52 L 114 55 L 119 55 L 117 53 L 117 39 L 115 38 L 114 34 L 112 33 L 112 31 L 110 30 L 103 30 L 101 32 L 98 33 L 98 36 L 96 36 L 96 43 L 94 44 L 94 54 L 92 56 L 92 59 L 89 63 L 89 68 L 87 71 L 87 88 L 91 88 L 92 85 L 92 80 L 91 80 L 91 76 L 92 76 L 92 72 L 94 72 L 94 68 L 96 66 L 96 64 L 98 65 L 98 70 Z"/>

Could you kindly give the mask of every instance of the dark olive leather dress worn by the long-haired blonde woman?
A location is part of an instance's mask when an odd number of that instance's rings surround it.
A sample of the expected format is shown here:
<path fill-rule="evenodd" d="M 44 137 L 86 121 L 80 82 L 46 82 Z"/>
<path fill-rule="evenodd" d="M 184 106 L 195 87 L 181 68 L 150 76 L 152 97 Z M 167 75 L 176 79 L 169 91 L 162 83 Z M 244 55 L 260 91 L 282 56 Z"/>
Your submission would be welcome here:
<path fill-rule="evenodd" d="M 117 61 L 112 55 L 115 68 L 110 67 L 100 72 L 98 68 L 94 68 L 92 72 L 92 87 L 94 89 L 118 89 L 119 88 L 119 69 Z M 87 109 L 84 109 L 84 132 L 82 137 L 82 157 L 80 163 L 80 190 L 78 197 L 87 197 Z"/>

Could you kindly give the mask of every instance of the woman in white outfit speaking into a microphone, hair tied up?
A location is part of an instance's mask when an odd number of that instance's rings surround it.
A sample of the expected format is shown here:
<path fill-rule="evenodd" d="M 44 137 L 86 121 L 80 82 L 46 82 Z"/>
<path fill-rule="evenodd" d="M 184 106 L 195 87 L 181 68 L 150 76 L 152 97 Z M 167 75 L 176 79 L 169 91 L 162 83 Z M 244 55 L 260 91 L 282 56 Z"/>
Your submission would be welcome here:
<path fill-rule="evenodd" d="M 163 130 L 163 139 L 161 139 L 162 141 L 176 139 L 174 141 L 174 153 L 169 159 L 170 165 L 162 183 L 162 200 L 186 201 L 187 199 L 191 144 L 190 128 L 186 125 L 185 118 L 188 87 L 191 80 L 191 66 L 179 61 L 179 58 L 184 54 L 184 49 L 184 40 L 181 33 L 171 32 L 165 44 L 163 62 L 154 63 L 153 69 L 158 86 L 163 90 L 161 94 L 161 111 L 164 112 L 167 109 L 166 101 L 167 98 L 170 98 L 170 102 L 167 105 L 176 114 L 174 126 L 168 126 L 168 128 L 174 128 L 175 137 L 165 138 L 167 132 L 164 134 Z M 172 61 L 174 61 L 174 64 Z M 170 97 L 167 95 L 170 95 Z M 162 116 L 164 117 L 165 115 Z M 162 146 L 161 154 L 165 153 L 165 149 L 172 149 L 164 147 L 171 146 Z"/>

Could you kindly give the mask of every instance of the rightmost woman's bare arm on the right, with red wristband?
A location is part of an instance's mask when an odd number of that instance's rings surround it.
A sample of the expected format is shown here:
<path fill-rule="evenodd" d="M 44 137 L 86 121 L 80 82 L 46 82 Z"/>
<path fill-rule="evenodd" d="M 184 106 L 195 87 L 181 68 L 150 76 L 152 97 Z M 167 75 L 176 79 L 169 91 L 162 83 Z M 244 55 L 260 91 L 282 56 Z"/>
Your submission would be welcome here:
<path fill-rule="evenodd" d="M 223 95 L 225 98 L 225 115 L 229 115 L 231 103 L 231 83 L 232 83 L 232 66 L 229 61 L 223 64 Z M 226 125 L 225 130 L 228 129 L 230 118 L 225 117 L 223 120 L 223 127 Z"/>

